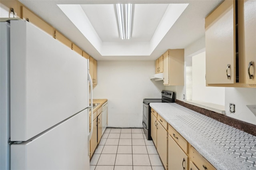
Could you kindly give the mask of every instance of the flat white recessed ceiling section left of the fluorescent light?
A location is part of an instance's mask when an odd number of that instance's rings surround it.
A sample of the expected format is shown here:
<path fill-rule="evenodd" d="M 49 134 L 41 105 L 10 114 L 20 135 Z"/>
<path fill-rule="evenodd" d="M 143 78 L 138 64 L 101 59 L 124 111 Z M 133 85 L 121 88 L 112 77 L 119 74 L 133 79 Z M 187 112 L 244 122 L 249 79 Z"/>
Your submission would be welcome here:
<path fill-rule="evenodd" d="M 114 4 L 81 5 L 102 42 L 120 41 Z"/>

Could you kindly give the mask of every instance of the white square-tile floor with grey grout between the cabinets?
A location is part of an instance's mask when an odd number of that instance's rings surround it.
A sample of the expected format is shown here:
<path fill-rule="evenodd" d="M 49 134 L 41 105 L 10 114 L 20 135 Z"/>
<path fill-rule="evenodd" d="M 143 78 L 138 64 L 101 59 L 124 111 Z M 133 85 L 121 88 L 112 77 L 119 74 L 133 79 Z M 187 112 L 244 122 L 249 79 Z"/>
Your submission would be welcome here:
<path fill-rule="evenodd" d="M 164 170 L 164 166 L 141 128 L 106 128 L 90 170 Z"/>

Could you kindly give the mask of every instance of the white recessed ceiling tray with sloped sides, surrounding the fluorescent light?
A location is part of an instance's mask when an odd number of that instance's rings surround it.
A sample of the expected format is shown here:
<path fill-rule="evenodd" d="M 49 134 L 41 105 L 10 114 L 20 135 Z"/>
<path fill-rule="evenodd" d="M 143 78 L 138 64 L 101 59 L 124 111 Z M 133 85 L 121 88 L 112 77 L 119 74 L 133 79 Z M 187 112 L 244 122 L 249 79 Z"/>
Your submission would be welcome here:
<path fill-rule="evenodd" d="M 58 5 L 102 56 L 150 55 L 188 4 L 134 4 L 132 37 L 119 38 L 114 4 Z"/>

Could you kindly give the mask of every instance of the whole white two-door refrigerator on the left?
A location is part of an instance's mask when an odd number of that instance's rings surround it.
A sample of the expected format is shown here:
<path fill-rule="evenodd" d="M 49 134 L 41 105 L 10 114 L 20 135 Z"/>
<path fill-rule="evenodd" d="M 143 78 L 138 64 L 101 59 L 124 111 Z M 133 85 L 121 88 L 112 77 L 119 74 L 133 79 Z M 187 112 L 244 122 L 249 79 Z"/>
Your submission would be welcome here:
<path fill-rule="evenodd" d="M 88 59 L 27 21 L 0 24 L 0 169 L 89 170 Z"/>

